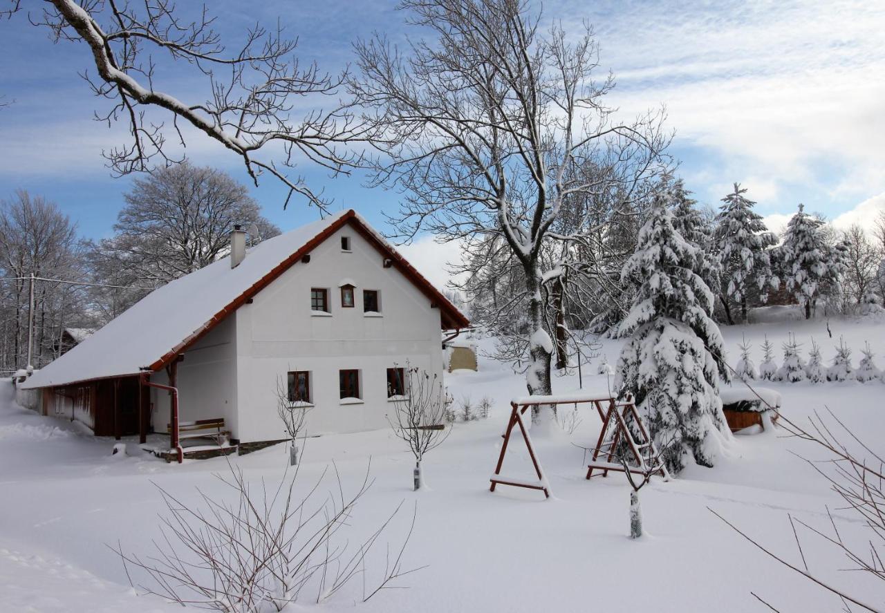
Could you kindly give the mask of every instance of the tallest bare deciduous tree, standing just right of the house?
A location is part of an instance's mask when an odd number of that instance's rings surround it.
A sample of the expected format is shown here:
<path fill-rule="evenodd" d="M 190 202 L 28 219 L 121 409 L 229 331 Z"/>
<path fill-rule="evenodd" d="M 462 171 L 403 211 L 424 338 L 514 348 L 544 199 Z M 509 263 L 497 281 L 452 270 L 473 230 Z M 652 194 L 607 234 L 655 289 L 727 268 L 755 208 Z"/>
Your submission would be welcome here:
<path fill-rule="evenodd" d="M 613 80 L 595 80 L 592 31 L 574 42 L 559 27 L 540 34 L 524 0 L 404 0 L 401 8 L 435 39 L 410 42 L 407 53 L 380 36 L 358 42 L 362 75 L 350 80 L 383 135 L 373 184 L 405 194 L 392 219 L 399 238 L 423 229 L 507 250 L 522 273 L 519 295 L 506 300 L 524 300 L 528 391 L 550 394 L 543 284 L 565 267 L 543 266 L 544 245 L 575 241 L 556 234 L 561 211 L 604 188 L 606 172 L 578 169 L 653 159 L 666 144 L 661 116 L 614 121 L 604 104 Z"/>

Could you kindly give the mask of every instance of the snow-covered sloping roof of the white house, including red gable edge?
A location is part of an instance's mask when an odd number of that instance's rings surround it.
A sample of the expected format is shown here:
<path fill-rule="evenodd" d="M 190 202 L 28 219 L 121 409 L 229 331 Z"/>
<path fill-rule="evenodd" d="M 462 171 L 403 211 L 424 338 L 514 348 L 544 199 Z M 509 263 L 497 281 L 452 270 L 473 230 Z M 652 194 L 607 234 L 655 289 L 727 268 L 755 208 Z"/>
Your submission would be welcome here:
<path fill-rule="evenodd" d="M 151 292 L 118 318 L 81 342 L 64 356 L 27 379 L 22 387 L 50 387 L 76 381 L 133 375 L 144 367 L 161 368 L 206 330 L 235 310 L 250 294 L 276 278 L 345 223 L 359 229 L 389 251 L 398 268 L 439 304 L 445 320 L 466 326 L 467 319 L 425 280 L 396 249 L 368 226 L 355 211 L 341 211 L 268 239 L 249 249 L 231 269 L 229 257 L 173 280 Z M 444 322 L 445 323 L 445 322 Z"/>

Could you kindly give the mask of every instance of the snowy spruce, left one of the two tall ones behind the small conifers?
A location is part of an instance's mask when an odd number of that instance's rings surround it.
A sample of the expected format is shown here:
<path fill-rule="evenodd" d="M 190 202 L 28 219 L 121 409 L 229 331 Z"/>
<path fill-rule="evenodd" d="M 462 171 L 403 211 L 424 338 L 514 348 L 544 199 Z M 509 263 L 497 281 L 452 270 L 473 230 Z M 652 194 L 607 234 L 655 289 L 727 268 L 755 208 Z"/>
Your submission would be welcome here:
<path fill-rule="evenodd" d="M 722 306 L 728 323 L 735 323 L 729 300 L 741 308 L 741 321 L 747 321 L 747 294 L 752 287 L 760 292 L 763 302 L 768 299 L 766 287 L 777 287 L 778 280 L 771 274 L 771 260 L 767 249 L 775 239 L 767 231 L 762 217 L 752 211 L 756 204 L 744 194 L 746 188 L 735 183 L 735 191 L 722 198 L 724 204 L 716 218 L 713 243 L 719 255 L 721 271 Z"/>

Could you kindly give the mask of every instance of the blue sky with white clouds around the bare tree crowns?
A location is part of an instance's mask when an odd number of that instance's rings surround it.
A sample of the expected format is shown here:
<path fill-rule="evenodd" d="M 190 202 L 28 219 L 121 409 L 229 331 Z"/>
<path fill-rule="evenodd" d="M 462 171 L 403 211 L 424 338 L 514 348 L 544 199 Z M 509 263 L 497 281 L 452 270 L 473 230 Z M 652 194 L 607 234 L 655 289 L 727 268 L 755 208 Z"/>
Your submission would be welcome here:
<path fill-rule="evenodd" d="M 299 36 L 299 56 L 329 71 L 351 60 L 354 39 L 405 31 L 393 0 L 211 4 L 226 36 L 279 17 Z M 548 0 L 543 8 L 545 19 L 575 33 L 584 20 L 594 25 L 621 112 L 666 104 L 676 133 L 671 153 L 702 202 L 717 203 L 736 180 L 775 226 L 799 202 L 841 224 L 885 208 L 885 4 Z M 119 126 L 91 119 L 106 103 L 77 76 L 88 67 L 87 51 L 53 44 L 25 18 L 0 23 L 0 95 L 15 101 L 0 110 L 0 197 L 16 188 L 46 195 L 82 234 L 100 238 L 111 232 L 130 184 L 112 178 L 101 157 L 120 142 Z M 173 93 L 192 91 L 180 74 L 167 79 Z M 219 149 L 196 139 L 188 150 L 196 164 L 245 180 L 238 160 Z M 364 188 L 360 176 L 301 171 L 381 229 L 381 211 L 396 209 L 395 193 Z M 282 211 L 285 191 L 269 178 L 252 194 L 284 229 L 316 215 L 300 202 Z"/>

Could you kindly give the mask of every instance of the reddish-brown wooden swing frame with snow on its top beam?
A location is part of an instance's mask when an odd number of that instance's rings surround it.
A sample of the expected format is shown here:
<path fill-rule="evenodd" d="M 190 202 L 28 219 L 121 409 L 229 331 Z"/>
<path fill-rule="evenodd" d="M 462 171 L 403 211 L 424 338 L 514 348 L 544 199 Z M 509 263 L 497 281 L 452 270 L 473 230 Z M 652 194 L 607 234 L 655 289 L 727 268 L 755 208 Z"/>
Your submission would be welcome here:
<path fill-rule="evenodd" d="M 489 491 L 494 492 L 495 488 L 499 485 L 525 487 L 527 489 L 540 490 L 543 492 L 544 498 L 550 498 L 550 482 L 544 475 L 543 467 L 535 454 L 535 448 L 532 445 L 531 436 L 528 433 L 522 416 L 529 407 L 539 407 L 542 405 L 558 406 L 560 404 L 573 404 L 577 407 L 578 404 L 588 403 L 591 403 L 596 409 L 596 413 L 602 420 L 603 428 L 599 433 L 596 448 L 593 449 L 592 459 L 587 466 L 587 479 L 594 476 L 593 471 L 595 470 L 602 471 L 603 477 L 607 477 L 609 471 L 627 473 L 627 478 L 630 479 L 631 484 L 633 481 L 632 476 L 634 474 L 641 475 L 644 481 L 647 481 L 652 475 L 658 473 L 665 481 L 671 479 L 670 473 L 667 471 L 664 463 L 660 460 L 658 449 L 655 447 L 654 442 L 651 441 L 648 429 L 643 424 L 642 418 L 640 418 L 639 414 L 636 412 L 635 405 L 630 396 L 627 396 L 626 400 L 619 401 L 613 396 L 589 396 L 581 393 L 530 395 L 514 398 L 510 402 L 510 418 L 507 422 L 507 428 L 504 431 L 504 434 L 502 434 L 504 443 L 501 445 L 501 454 L 498 456 L 495 472 L 489 478 L 489 481 L 491 482 Z M 606 409 L 603 409 L 604 403 L 607 405 Z M 630 428 L 627 427 L 628 418 L 633 419 L 637 425 L 637 430 L 641 437 L 641 440 L 638 443 L 635 440 L 633 433 L 630 432 Z M 519 426 L 519 432 L 522 433 L 522 438 L 526 441 L 528 456 L 531 458 L 532 466 L 535 468 L 535 475 L 537 476 L 536 480 L 519 479 L 501 474 L 501 468 L 504 465 L 504 456 L 507 454 L 507 445 L 510 442 L 513 428 L 516 426 Z M 635 466 L 627 464 L 627 461 L 615 455 L 615 449 L 618 447 L 621 437 L 627 442 L 627 446 L 634 456 Z M 643 449 L 648 449 L 649 453 L 644 454 Z M 604 461 L 602 460 L 602 456 L 606 456 Z M 646 457 L 652 460 L 651 465 L 646 462 Z M 612 460 L 617 461 L 612 462 Z"/>

